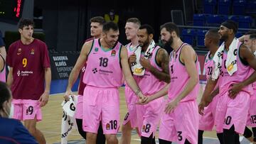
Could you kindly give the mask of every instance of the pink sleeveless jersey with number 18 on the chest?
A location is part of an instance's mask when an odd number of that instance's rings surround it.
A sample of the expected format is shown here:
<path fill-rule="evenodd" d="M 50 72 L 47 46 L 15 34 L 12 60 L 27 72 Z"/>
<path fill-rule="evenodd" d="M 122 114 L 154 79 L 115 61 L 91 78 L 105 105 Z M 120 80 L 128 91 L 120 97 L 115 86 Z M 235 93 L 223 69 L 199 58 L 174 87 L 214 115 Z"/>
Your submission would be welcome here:
<path fill-rule="evenodd" d="M 87 56 L 83 82 L 93 87 L 121 87 L 121 48 L 122 44 L 117 42 L 114 48 L 105 50 L 100 44 L 100 39 L 93 40 L 92 48 Z"/>

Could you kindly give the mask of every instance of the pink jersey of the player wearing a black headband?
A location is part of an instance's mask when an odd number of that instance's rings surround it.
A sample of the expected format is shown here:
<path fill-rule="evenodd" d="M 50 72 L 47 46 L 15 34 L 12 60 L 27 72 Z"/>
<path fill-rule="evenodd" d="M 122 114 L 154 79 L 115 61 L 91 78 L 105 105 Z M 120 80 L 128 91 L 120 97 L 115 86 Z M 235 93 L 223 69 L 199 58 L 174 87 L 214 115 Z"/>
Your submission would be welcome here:
<path fill-rule="evenodd" d="M 218 79 L 220 86 L 220 94 L 226 92 L 232 84 L 242 82 L 248 77 L 250 77 L 250 66 L 242 64 L 241 58 L 239 56 L 240 45 L 242 45 L 242 43 L 239 43 L 237 52 L 234 52 L 235 55 L 237 55 L 236 63 L 238 66 L 238 70 L 234 72 L 232 76 L 230 76 L 230 74 L 228 74 L 228 71 L 226 70 L 225 62 L 227 60 L 228 52 L 226 52 L 224 49 L 223 60 L 221 64 L 221 72 Z M 252 94 L 252 85 L 249 84 L 248 86 L 242 88 L 242 91 Z"/>

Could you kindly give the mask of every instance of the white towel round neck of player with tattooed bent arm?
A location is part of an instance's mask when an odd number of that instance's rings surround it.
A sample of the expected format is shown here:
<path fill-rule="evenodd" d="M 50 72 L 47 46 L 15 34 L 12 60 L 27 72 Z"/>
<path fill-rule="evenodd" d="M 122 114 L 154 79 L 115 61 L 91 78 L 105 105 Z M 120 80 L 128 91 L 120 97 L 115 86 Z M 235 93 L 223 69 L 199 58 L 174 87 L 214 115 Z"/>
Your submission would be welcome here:
<path fill-rule="evenodd" d="M 151 43 L 149 44 L 149 47 L 146 49 L 146 52 L 144 54 L 144 57 L 146 59 L 149 58 L 149 56 L 151 55 L 155 47 L 156 47 L 156 43 L 154 43 L 154 40 L 151 40 Z M 145 69 L 144 67 L 142 67 L 142 65 L 139 62 L 140 56 L 142 54 L 142 47 L 138 46 L 137 50 L 135 50 L 134 53 L 136 55 L 136 63 L 134 63 L 134 65 L 132 65 L 131 67 L 132 73 L 134 75 L 142 76 L 145 74 Z"/>

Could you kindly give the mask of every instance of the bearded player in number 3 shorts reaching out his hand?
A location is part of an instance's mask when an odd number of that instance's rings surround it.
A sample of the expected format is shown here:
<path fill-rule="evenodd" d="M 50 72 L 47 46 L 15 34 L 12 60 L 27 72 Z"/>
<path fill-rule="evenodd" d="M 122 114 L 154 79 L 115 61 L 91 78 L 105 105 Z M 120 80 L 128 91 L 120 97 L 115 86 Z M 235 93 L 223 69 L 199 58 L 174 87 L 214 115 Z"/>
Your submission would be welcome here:
<path fill-rule="evenodd" d="M 199 63 L 195 50 L 183 43 L 175 23 L 161 26 L 161 40 L 170 43 L 174 50 L 170 54 L 170 84 L 156 94 L 149 96 L 146 103 L 168 93 L 168 99 L 161 116 L 159 143 L 198 143 Z"/>

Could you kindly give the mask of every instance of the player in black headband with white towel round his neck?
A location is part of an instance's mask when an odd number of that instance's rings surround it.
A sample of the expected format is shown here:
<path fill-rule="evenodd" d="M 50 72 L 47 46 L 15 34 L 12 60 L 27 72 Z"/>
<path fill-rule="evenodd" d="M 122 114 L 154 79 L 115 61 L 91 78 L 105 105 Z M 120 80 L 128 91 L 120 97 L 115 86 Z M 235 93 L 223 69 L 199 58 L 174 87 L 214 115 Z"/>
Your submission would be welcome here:
<path fill-rule="evenodd" d="M 210 93 L 219 82 L 220 97 L 215 111 L 216 131 L 223 131 L 224 143 L 240 143 L 238 133 L 244 133 L 247 111 L 250 106 L 252 82 L 256 79 L 256 58 L 252 51 L 235 38 L 238 26 L 234 21 L 221 23 L 223 44 L 213 57 L 215 67 L 212 79 L 208 79 L 201 104 L 207 105 L 213 99 Z M 223 123 L 224 121 L 224 123 Z"/>

